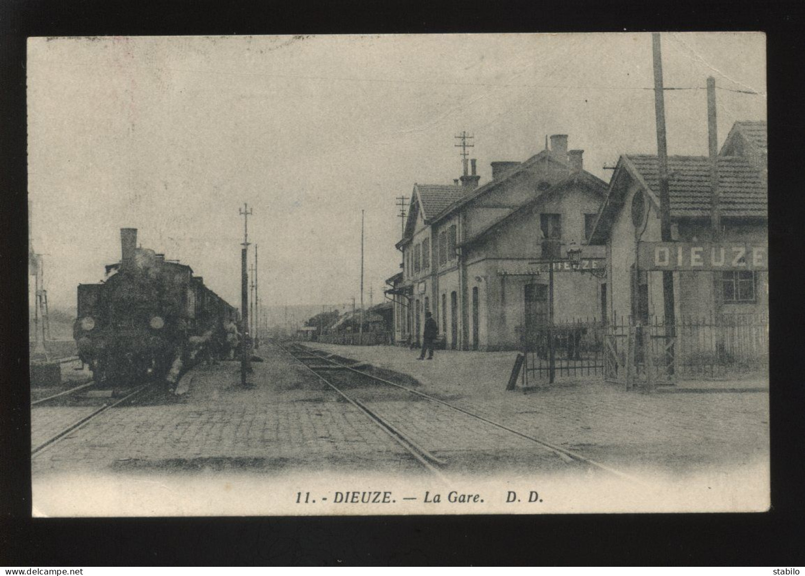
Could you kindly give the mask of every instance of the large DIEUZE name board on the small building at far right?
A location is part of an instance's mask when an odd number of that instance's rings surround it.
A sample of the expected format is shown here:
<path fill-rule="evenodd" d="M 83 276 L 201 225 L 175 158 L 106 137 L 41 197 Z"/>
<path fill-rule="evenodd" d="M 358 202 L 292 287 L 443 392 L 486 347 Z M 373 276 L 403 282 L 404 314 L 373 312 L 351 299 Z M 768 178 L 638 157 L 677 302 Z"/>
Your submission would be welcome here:
<path fill-rule="evenodd" d="M 769 248 L 753 242 L 640 242 L 641 270 L 768 270 Z"/>

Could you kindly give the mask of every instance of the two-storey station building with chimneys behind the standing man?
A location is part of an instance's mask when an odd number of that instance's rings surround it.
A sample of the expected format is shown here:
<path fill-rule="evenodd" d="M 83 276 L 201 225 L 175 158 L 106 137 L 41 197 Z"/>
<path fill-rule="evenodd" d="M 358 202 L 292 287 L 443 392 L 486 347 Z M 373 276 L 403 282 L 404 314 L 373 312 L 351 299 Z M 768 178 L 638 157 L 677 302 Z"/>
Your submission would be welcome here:
<path fill-rule="evenodd" d="M 606 196 L 604 181 L 583 167 L 568 136 L 524 162 L 493 162 L 479 186 L 475 160 L 453 184 L 415 184 L 403 238 L 403 271 L 386 284 L 394 295 L 394 340 L 418 344 L 424 314 L 453 350 L 508 350 L 548 319 L 547 262 L 585 244 Z M 469 173 L 468 173 L 469 172 Z M 584 247 L 590 266 L 605 247 Z M 597 260 L 600 259 L 600 260 Z M 555 321 L 606 317 L 606 280 L 553 263 Z"/>

